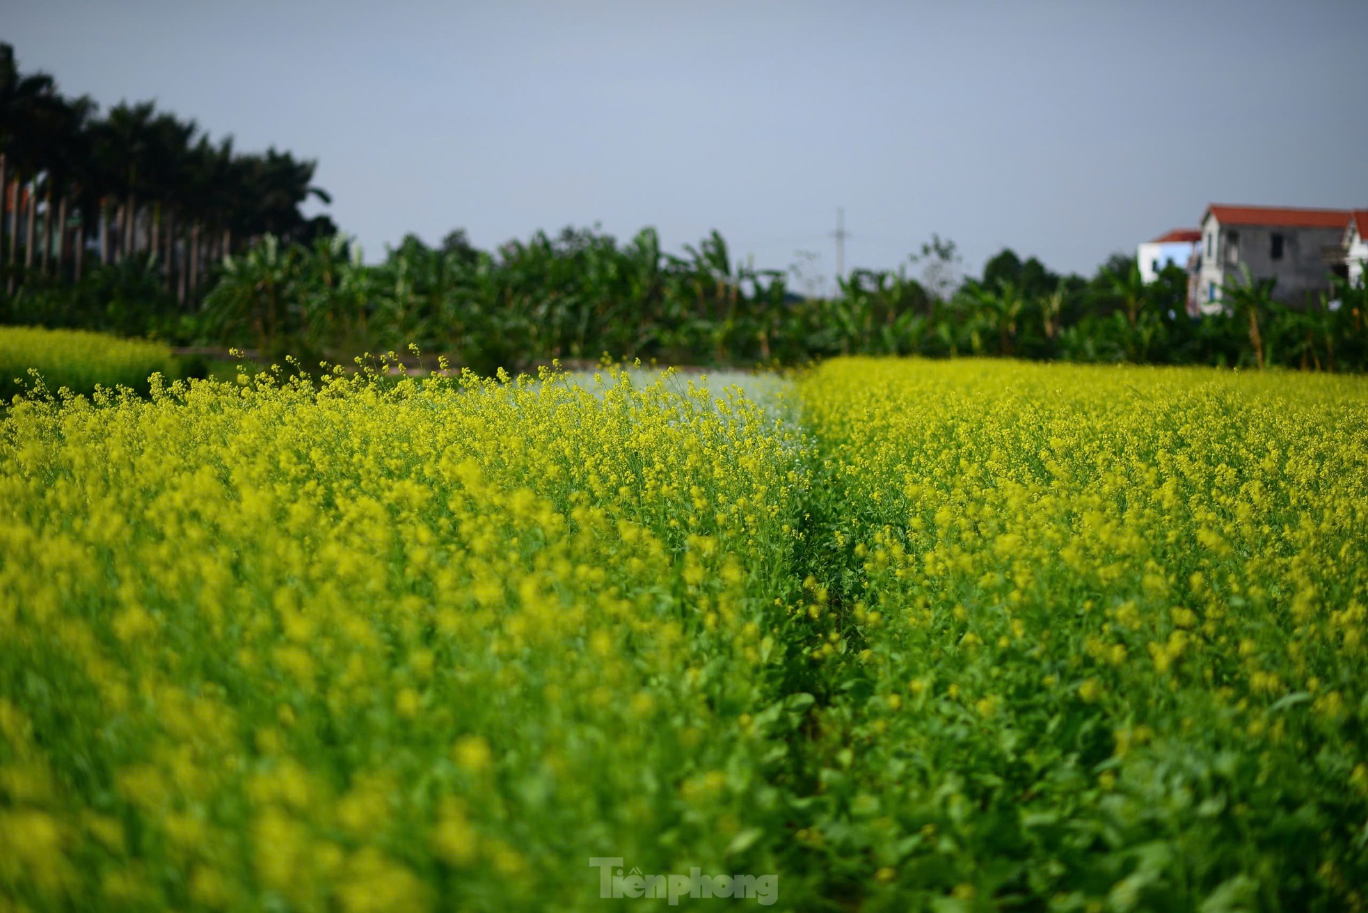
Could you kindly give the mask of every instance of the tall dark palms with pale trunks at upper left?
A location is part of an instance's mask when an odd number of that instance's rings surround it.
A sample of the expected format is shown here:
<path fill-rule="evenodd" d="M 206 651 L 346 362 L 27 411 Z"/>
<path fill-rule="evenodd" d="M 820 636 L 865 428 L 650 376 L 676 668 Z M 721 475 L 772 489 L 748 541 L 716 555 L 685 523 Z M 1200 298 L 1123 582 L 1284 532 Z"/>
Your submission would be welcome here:
<path fill-rule="evenodd" d="M 306 219 L 316 163 L 275 148 L 239 153 L 152 101 L 101 114 L 63 96 L 45 73 L 22 73 L 0 44 L 0 275 L 4 292 L 81 282 L 92 268 L 140 260 L 186 305 L 212 264 L 272 234 L 334 234 Z"/>

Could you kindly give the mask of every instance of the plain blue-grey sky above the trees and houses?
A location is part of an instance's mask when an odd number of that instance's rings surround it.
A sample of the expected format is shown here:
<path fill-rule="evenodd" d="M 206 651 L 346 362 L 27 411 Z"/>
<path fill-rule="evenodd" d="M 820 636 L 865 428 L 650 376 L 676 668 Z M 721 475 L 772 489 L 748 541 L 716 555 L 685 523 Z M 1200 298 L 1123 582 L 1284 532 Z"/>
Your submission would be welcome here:
<path fill-rule="evenodd" d="M 155 97 L 319 159 L 368 259 L 654 224 L 736 256 L 1055 270 L 1208 201 L 1368 207 L 1368 3 L 70 3 L 0 38 L 101 105 Z"/>

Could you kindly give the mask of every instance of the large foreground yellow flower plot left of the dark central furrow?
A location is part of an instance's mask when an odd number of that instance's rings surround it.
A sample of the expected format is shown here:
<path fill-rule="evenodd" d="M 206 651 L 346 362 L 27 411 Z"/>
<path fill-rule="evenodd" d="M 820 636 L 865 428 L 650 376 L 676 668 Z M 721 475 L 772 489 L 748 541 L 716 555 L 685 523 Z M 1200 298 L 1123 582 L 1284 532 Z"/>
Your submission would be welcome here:
<path fill-rule="evenodd" d="M 16 405 L 5 892 L 557 908 L 599 902 L 590 857 L 721 865 L 778 764 L 739 717 L 784 661 L 793 434 L 673 379 L 601 393 Z"/>

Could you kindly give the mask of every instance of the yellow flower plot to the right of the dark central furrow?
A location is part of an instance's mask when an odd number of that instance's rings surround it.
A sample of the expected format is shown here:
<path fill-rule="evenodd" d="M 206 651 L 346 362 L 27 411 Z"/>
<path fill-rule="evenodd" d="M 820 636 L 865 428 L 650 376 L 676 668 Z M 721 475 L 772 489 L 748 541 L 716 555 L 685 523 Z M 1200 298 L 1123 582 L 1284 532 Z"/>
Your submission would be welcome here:
<path fill-rule="evenodd" d="M 1364 905 L 1363 378 L 852 359 L 802 397 L 850 657 L 813 831 L 871 909 Z"/>

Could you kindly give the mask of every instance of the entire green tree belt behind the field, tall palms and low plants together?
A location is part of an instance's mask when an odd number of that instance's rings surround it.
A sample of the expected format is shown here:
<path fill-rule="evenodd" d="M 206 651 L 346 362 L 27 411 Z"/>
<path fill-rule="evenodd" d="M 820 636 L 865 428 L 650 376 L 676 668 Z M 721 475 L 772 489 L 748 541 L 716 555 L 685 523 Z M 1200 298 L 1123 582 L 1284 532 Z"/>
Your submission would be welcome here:
<path fill-rule="evenodd" d="M 799 364 L 832 355 L 996 355 L 1075 361 L 1368 370 L 1364 290 L 1305 309 L 1270 282 L 1187 316 L 1187 275 L 1145 283 L 1116 255 L 1092 278 L 1003 250 L 967 277 L 933 235 L 897 270 L 811 275 L 737 263 L 711 233 L 680 255 L 644 229 L 538 231 L 495 250 L 415 235 L 367 264 L 306 219 L 316 163 L 238 153 L 152 103 L 101 115 L 21 73 L 0 44 L 0 322 L 346 360 L 409 344 L 480 371 L 553 357 Z M 88 263 L 93 259 L 93 263 Z M 793 293 L 795 287 L 808 294 Z"/>

